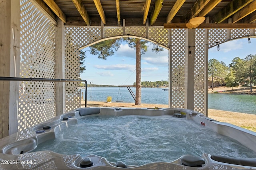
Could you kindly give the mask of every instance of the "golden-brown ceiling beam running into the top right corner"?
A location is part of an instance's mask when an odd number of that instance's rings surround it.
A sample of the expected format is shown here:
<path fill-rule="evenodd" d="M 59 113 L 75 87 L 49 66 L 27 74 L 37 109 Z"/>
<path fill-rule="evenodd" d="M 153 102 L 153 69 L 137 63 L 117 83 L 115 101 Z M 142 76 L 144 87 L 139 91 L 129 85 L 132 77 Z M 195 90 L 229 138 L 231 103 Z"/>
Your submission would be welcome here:
<path fill-rule="evenodd" d="M 244 7 L 242 10 L 238 11 L 232 16 L 232 23 L 236 23 L 242 18 L 248 16 L 252 12 L 256 11 L 256 1 L 252 2 L 250 5 Z"/>

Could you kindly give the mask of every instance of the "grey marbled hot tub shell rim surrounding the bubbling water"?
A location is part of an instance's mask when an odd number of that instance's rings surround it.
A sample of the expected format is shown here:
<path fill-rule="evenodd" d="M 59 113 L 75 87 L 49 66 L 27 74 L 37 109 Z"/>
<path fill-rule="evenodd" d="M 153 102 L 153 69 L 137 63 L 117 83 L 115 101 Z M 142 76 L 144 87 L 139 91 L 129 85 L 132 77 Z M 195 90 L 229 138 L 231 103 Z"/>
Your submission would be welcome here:
<path fill-rule="evenodd" d="M 86 158 L 92 161 L 91 170 L 118 170 L 123 167 L 117 167 L 116 163 L 108 162 L 106 158 L 97 155 L 88 155 L 82 158 L 79 154 L 64 155 L 52 152 L 49 150 L 33 152 L 38 144 L 43 143 L 49 139 L 55 139 L 56 134 L 68 128 L 70 125 L 77 124 L 78 119 L 91 115 L 172 115 L 192 119 L 196 123 L 209 127 L 219 134 L 235 139 L 241 145 L 248 147 L 256 152 L 256 133 L 237 127 L 230 123 L 218 122 L 204 114 L 198 113 L 189 109 L 166 108 L 112 108 L 112 107 L 87 107 L 80 108 L 60 116 L 54 117 L 48 121 L 35 125 L 32 128 L 25 129 L 18 133 L 14 133 L 8 137 L 0 139 L 0 169 L 88 169 L 81 168 L 80 164 Z M 44 128 L 50 126 L 50 128 Z M 40 131 L 44 133 L 36 133 Z M 184 165 L 188 158 L 192 158 L 192 164 L 196 161 L 204 160 L 202 167 L 192 167 L 191 165 Z M 214 160 L 215 159 L 215 160 Z M 193 158 L 190 155 L 184 155 L 172 162 L 152 162 L 141 166 L 126 165 L 126 168 L 131 170 L 180 170 L 180 169 L 256 169 L 256 159 L 232 159 L 222 158 L 221 156 L 212 156 L 208 153 L 202 154 L 200 158 Z"/>

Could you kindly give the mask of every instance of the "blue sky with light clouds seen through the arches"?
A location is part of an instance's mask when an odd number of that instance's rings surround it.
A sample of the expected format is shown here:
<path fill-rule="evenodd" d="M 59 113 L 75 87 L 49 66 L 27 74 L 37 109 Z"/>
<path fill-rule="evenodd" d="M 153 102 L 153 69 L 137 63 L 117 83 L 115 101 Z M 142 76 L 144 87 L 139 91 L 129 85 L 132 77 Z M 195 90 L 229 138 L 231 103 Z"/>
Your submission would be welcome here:
<path fill-rule="evenodd" d="M 155 53 L 151 49 L 152 44 L 148 43 L 148 51 L 141 55 L 141 80 L 152 82 L 168 80 L 168 50 Z M 80 78 L 86 80 L 88 84 L 92 82 L 92 84 L 118 86 L 133 85 L 136 81 L 136 52 L 128 47 L 127 43 L 122 43 L 120 49 L 106 60 L 91 55 L 90 47 L 84 48 L 83 51 L 86 51 L 84 62 L 86 70 Z M 220 44 L 220 51 L 217 51 L 217 47 L 212 47 L 209 49 L 208 59 L 223 61 L 228 66 L 234 57 L 244 59 L 250 54 L 256 54 L 256 38 L 252 37 L 250 44 L 247 38 L 243 38 Z"/>

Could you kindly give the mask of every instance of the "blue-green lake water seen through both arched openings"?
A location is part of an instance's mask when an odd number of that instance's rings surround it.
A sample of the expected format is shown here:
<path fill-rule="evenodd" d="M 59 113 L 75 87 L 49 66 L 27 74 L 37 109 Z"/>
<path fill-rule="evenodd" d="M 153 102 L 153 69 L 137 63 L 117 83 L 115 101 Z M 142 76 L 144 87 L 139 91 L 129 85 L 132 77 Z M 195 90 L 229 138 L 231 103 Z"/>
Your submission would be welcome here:
<path fill-rule="evenodd" d="M 135 94 L 135 88 L 131 87 Z M 120 90 L 120 91 L 119 91 Z M 84 89 L 81 94 L 84 95 Z M 162 88 L 142 88 L 141 102 L 146 104 L 168 104 L 168 91 Z M 121 94 L 121 95 L 120 95 Z M 88 101 L 106 102 L 108 96 L 112 96 L 112 102 L 123 100 L 133 103 L 134 99 L 126 87 L 88 87 Z M 240 113 L 256 114 L 256 96 L 246 94 L 208 94 L 208 108 L 235 111 Z"/>

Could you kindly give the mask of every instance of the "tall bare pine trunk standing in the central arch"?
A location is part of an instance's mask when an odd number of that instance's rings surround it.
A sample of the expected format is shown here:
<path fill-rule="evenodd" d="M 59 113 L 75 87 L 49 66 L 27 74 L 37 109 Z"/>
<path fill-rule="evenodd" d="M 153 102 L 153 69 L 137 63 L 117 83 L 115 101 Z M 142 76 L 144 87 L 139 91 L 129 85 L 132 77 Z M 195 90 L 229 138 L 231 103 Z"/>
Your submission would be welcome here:
<path fill-rule="evenodd" d="M 141 105 L 141 49 L 140 39 L 136 39 L 136 100 L 135 105 Z"/>

